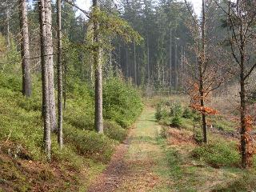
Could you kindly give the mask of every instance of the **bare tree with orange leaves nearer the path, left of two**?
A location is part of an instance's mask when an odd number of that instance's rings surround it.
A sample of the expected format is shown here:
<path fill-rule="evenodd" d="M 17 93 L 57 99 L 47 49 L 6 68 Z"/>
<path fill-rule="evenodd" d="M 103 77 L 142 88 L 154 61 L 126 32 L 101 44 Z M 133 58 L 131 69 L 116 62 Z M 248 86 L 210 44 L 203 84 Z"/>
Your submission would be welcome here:
<path fill-rule="evenodd" d="M 186 2 L 186 1 L 185 1 Z M 186 5 L 188 9 L 187 2 Z M 209 9 L 209 7 L 208 7 Z M 210 44 L 209 39 L 206 39 L 207 28 L 206 28 L 206 2 L 202 0 L 202 21 L 198 22 L 194 15 L 190 11 L 192 17 L 192 24 L 189 24 L 190 33 L 194 38 L 194 46 L 192 47 L 193 52 L 197 56 L 197 64 L 191 65 L 186 60 L 186 67 L 188 74 L 187 92 L 191 96 L 192 106 L 202 114 L 202 134 L 203 142 L 208 142 L 207 137 L 207 114 L 214 114 L 215 111 L 206 106 L 206 98 L 210 92 L 218 89 L 222 85 L 225 79 L 226 72 L 222 70 L 225 67 L 225 55 L 224 50 L 221 50 L 217 44 Z M 207 20 L 209 22 L 209 19 Z M 210 25 L 210 24 L 208 24 Z M 211 37 L 213 38 L 213 37 Z M 217 57 L 216 53 L 220 53 Z M 194 70 L 196 73 L 194 74 Z M 192 72 L 192 74 L 190 74 Z M 196 92 L 196 93 L 195 93 Z"/>

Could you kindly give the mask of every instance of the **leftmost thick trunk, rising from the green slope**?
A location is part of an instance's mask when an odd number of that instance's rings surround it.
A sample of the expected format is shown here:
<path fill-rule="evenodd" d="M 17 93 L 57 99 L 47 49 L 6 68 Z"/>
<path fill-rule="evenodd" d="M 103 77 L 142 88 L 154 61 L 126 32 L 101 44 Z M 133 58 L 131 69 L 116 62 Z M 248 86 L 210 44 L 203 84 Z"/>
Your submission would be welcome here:
<path fill-rule="evenodd" d="M 19 1 L 20 28 L 22 32 L 21 54 L 22 54 L 22 94 L 31 96 L 31 75 L 30 75 L 30 38 L 27 23 L 26 0 Z"/>

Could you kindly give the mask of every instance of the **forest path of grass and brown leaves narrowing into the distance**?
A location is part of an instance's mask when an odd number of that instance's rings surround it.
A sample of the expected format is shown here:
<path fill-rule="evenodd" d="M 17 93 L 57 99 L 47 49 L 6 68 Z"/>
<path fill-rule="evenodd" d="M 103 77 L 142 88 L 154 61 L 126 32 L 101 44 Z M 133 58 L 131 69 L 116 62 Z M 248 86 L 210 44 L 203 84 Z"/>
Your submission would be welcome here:
<path fill-rule="evenodd" d="M 160 134 L 154 109 L 146 106 L 109 166 L 87 191 L 170 191 L 169 167 Z"/>

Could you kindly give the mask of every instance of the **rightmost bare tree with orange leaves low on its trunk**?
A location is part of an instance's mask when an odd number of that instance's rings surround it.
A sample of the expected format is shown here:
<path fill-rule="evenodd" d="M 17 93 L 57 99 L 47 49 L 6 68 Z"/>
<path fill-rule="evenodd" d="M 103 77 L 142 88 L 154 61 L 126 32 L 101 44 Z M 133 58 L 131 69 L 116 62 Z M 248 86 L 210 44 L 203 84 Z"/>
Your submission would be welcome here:
<path fill-rule="evenodd" d="M 218 2 L 216 2 L 218 4 Z M 254 1 L 231 0 L 226 1 L 226 7 L 222 7 L 226 13 L 229 32 L 229 42 L 231 54 L 234 62 L 238 66 L 238 70 L 233 70 L 232 73 L 239 77 L 240 84 L 240 126 L 241 126 L 241 141 L 240 150 L 242 155 L 242 167 L 246 168 L 251 164 L 251 149 L 250 149 L 250 133 L 248 132 L 248 114 L 247 110 L 247 91 L 246 84 L 248 78 L 256 67 L 256 62 L 252 57 L 255 55 L 255 37 L 256 33 L 254 26 L 256 23 L 256 4 Z"/>

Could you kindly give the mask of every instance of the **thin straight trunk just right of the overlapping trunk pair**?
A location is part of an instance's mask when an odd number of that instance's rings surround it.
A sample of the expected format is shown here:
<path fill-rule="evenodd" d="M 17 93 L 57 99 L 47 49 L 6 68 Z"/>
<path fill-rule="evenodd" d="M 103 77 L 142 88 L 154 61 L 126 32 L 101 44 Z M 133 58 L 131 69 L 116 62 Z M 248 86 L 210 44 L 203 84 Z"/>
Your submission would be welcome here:
<path fill-rule="evenodd" d="M 62 122 L 63 122 L 63 110 L 62 110 L 62 1 L 57 0 L 57 25 L 58 25 L 58 144 L 62 149 Z"/>

